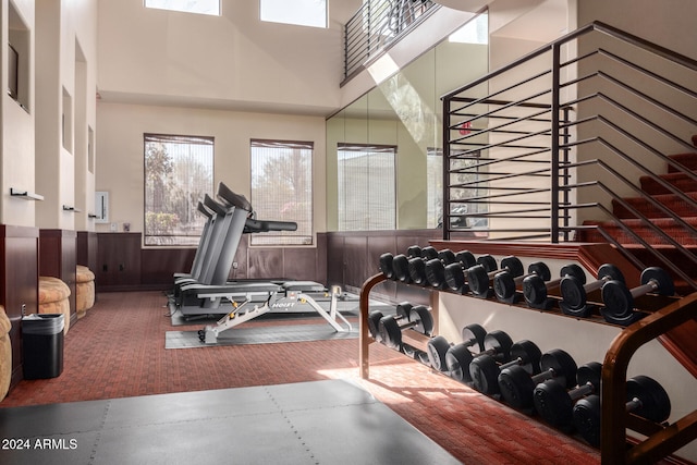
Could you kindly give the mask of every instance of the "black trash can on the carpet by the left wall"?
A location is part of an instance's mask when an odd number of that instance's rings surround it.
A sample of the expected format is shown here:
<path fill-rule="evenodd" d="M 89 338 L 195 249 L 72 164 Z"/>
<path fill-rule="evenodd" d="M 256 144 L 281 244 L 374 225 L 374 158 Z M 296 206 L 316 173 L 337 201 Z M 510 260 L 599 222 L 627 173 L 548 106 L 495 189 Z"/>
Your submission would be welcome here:
<path fill-rule="evenodd" d="M 63 372 L 63 314 L 33 314 L 22 318 L 24 379 L 56 378 Z"/>

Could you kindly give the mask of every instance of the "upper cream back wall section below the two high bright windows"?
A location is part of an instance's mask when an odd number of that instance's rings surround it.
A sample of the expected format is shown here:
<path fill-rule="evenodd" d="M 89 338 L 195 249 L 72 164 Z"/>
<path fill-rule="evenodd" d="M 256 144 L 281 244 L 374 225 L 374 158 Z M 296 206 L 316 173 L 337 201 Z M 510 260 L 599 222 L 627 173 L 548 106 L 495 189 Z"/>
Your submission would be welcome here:
<path fill-rule="evenodd" d="M 339 108 L 342 24 L 359 0 L 329 2 L 328 28 L 266 23 L 258 1 L 222 0 L 222 16 L 99 0 L 105 99 L 328 114 Z"/>

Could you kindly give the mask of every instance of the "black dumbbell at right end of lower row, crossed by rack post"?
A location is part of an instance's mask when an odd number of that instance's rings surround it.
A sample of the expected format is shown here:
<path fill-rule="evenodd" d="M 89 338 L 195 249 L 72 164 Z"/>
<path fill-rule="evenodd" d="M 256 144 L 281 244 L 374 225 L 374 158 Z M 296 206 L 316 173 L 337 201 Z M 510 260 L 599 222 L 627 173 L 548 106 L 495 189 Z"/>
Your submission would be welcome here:
<path fill-rule="evenodd" d="M 671 400 L 663 387 L 648 376 L 627 380 L 626 411 L 653 423 L 671 416 Z M 591 394 L 574 405 L 574 426 L 596 448 L 600 445 L 600 395 Z"/>

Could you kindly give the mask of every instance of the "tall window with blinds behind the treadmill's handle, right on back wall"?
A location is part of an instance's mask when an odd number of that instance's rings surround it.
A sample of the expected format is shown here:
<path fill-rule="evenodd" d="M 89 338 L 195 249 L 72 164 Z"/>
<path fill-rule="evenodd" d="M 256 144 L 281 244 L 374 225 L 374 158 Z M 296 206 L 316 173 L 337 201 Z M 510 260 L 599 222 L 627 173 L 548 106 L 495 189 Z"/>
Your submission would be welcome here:
<path fill-rule="evenodd" d="M 252 140 L 249 201 L 257 218 L 297 223 L 296 231 L 252 234 L 252 245 L 313 244 L 313 147 L 311 142 Z"/>

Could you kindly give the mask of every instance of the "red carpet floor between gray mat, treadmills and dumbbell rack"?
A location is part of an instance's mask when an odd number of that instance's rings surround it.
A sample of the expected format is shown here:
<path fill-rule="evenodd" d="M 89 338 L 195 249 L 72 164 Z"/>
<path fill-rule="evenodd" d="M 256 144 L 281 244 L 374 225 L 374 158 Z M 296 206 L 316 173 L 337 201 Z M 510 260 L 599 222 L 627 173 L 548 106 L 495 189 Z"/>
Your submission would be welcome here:
<path fill-rule="evenodd" d="M 0 407 L 354 379 L 463 463 L 599 462 L 598 451 L 578 440 L 380 344 L 370 348 L 370 381 L 358 378 L 355 339 L 166 351 L 166 331 L 200 325 L 171 327 L 164 303 L 157 292 L 99 294 L 96 306 L 65 338 L 63 374 L 22 381 Z"/>

